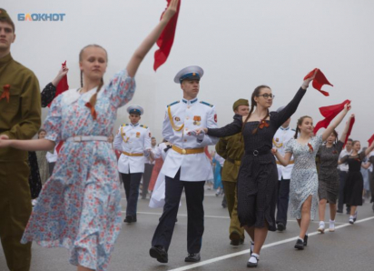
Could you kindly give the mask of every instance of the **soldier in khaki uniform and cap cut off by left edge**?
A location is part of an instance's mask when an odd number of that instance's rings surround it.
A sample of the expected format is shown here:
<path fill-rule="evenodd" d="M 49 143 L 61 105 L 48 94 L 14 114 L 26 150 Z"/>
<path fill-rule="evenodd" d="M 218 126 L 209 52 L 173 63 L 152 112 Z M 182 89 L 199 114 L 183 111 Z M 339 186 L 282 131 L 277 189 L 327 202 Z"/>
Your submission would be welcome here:
<path fill-rule="evenodd" d="M 31 139 L 41 123 L 39 83 L 10 54 L 15 24 L 0 8 L 0 137 Z M 0 149 L 0 236 L 11 271 L 30 269 L 31 243 L 20 243 L 31 214 L 27 152 Z"/>

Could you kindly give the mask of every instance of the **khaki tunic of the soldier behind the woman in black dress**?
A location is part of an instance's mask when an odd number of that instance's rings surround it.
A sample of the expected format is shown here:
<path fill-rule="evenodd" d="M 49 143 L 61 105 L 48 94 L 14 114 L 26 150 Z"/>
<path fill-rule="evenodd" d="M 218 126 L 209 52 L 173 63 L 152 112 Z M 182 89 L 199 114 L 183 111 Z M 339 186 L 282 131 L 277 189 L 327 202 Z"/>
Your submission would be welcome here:
<path fill-rule="evenodd" d="M 222 181 L 236 183 L 241 157 L 244 155 L 244 141 L 241 139 L 241 133 L 222 137 L 215 146 L 215 150 L 225 159 L 221 173 Z"/>

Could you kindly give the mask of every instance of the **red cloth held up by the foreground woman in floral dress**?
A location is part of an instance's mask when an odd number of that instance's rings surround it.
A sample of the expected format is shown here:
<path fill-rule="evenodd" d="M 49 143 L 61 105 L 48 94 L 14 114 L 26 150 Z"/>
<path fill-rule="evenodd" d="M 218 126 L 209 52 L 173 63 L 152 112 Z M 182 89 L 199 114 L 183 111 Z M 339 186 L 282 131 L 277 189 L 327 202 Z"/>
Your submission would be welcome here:
<path fill-rule="evenodd" d="M 167 6 L 169 6 L 170 3 L 172 2 L 172 0 L 166 0 L 166 1 L 168 2 Z M 166 62 L 166 59 L 168 59 L 170 51 L 172 50 L 172 43 L 174 42 L 175 29 L 177 27 L 180 7 L 181 7 L 181 1 L 179 1 L 178 3 L 177 12 L 175 13 L 175 15 L 172 16 L 172 19 L 170 20 L 168 25 L 166 25 L 165 29 L 163 29 L 162 34 L 157 40 L 157 45 L 159 46 L 160 49 L 158 49 L 154 53 L 154 65 L 153 65 L 154 71 L 157 71 L 157 69 Z M 161 17 L 163 16 L 164 13 L 165 12 L 162 13 Z"/>

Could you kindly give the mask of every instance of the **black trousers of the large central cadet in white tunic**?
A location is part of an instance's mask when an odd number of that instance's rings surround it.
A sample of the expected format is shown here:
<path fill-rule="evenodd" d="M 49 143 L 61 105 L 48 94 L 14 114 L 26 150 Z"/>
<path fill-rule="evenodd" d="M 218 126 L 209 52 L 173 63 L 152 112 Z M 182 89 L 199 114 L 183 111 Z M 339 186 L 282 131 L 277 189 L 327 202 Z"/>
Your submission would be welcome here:
<path fill-rule="evenodd" d="M 186 194 L 187 203 L 187 251 L 198 253 L 202 248 L 204 232 L 204 185 L 202 182 L 185 182 L 180 180 L 181 170 L 174 178 L 165 176 L 165 206 L 159 225 L 153 235 L 152 246 L 163 246 L 166 251 L 172 242 L 175 219 L 177 217 L 182 191 Z"/>

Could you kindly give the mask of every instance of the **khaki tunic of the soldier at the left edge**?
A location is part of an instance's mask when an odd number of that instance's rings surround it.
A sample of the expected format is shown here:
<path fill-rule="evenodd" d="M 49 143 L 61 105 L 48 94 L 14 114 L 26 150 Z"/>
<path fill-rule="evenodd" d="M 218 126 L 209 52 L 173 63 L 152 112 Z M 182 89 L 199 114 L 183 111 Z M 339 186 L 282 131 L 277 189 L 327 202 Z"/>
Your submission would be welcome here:
<path fill-rule="evenodd" d="M 10 85 L 9 102 L 0 100 L 0 135 L 10 139 L 31 139 L 41 124 L 39 82 L 32 71 L 16 62 L 12 55 L 0 58 L 0 96 Z M 0 148 L 0 161 L 25 161 L 27 152 Z"/>

